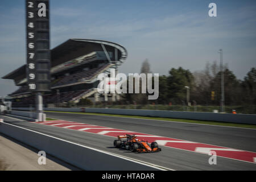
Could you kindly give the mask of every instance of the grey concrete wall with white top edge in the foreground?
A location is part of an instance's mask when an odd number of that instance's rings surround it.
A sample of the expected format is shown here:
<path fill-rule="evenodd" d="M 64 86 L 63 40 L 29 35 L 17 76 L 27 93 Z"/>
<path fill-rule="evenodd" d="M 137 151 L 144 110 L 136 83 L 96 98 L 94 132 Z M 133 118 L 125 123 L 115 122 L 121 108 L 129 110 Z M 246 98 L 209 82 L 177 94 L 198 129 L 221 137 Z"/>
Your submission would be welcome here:
<path fill-rule="evenodd" d="M 134 162 L 131 159 L 121 158 L 121 156 L 114 155 L 110 152 L 72 143 L 23 127 L 11 125 L 10 123 L 0 122 L 0 133 L 35 147 L 39 151 L 45 151 L 46 158 L 47 155 L 52 155 L 84 170 L 162 170 L 161 168 L 152 167 L 150 164 Z"/>

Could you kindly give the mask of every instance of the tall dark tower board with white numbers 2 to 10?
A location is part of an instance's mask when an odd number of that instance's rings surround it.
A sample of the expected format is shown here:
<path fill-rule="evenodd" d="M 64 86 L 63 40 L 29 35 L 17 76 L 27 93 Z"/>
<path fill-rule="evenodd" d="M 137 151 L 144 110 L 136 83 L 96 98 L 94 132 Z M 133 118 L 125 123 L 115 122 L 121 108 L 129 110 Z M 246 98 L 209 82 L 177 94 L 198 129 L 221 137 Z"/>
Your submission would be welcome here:
<path fill-rule="evenodd" d="M 49 0 L 26 0 L 28 91 L 50 91 Z"/>

